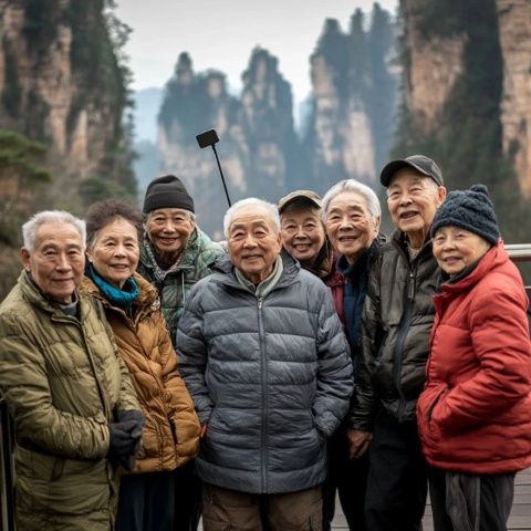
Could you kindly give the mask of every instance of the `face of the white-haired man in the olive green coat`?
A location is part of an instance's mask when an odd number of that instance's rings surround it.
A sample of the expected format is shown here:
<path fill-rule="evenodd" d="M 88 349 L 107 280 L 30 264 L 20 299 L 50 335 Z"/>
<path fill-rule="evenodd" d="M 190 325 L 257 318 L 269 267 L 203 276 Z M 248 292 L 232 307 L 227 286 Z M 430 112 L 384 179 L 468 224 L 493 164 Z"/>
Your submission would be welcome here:
<path fill-rule="evenodd" d="M 45 296 L 62 304 L 72 302 L 85 267 L 84 244 L 72 225 L 42 223 L 33 252 L 22 248 L 21 256 L 24 269 Z"/>

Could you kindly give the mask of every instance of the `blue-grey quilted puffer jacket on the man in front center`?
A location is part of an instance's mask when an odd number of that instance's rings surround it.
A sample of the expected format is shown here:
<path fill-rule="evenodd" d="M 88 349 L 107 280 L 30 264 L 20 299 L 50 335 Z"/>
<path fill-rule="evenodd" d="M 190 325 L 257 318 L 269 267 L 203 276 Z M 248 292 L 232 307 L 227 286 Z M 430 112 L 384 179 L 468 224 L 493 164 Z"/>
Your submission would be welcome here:
<path fill-rule="evenodd" d="M 249 493 L 308 489 L 353 389 L 346 339 L 323 282 L 283 256 L 263 298 L 228 257 L 192 289 L 179 322 L 180 372 L 208 429 L 196 460 L 209 483 Z"/>

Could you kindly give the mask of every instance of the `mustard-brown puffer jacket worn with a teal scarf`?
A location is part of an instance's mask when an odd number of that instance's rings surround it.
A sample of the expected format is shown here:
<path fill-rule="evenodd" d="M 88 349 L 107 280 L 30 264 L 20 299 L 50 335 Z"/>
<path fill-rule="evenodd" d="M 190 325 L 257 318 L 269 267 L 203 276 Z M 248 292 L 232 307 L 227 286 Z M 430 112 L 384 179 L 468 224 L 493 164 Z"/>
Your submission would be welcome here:
<path fill-rule="evenodd" d="M 199 420 L 177 369 L 157 291 L 139 274 L 134 280 L 139 295 L 132 316 L 113 306 L 87 277 L 83 290 L 102 301 L 146 418 L 133 472 L 174 470 L 196 457 Z"/>

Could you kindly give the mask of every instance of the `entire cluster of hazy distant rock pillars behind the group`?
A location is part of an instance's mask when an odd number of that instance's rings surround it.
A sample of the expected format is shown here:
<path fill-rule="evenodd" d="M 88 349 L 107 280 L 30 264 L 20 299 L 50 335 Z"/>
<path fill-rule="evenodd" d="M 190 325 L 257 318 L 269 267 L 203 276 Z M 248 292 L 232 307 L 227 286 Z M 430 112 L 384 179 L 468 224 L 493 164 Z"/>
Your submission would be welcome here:
<path fill-rule="evenodd" d="M 222 74 L 195 73 L 190 58 L 179 56 L 158 119 L 162 171 L 189 185 L 202 226 L 217 228 L 226 208 L 215 158 L 194 139 L 209 128 L 222 140 L 218 150 L 235 199 L 277 201 L 295 188 L 324 192 L 348 177 L 374 181 L 388 155 L 398 76 L 389 13 L 376 4 L 368 25 L 361 11 L 347 33 L 335 20 L 325 23 L 310 60 L 313 95 L 300 136 L 291 87 L 268 51 L 252 52 L 238 97 L 228 95 Z"/>

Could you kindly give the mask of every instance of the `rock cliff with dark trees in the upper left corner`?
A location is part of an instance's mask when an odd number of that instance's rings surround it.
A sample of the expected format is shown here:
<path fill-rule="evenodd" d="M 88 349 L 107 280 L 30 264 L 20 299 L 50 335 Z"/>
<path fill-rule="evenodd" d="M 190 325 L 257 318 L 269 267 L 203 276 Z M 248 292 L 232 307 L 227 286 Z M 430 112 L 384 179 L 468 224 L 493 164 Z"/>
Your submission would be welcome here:
<path fill-rule="evenodd" d="M 88 177 L 134 187 L 124 72 L 103 10 L 103 0 L 0 0 L 0 127 L 46 145 L 50 197 L 74 208 Z"/>

